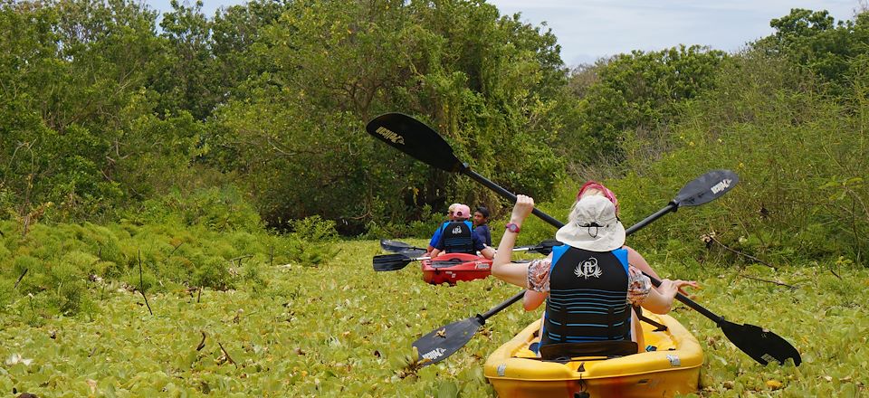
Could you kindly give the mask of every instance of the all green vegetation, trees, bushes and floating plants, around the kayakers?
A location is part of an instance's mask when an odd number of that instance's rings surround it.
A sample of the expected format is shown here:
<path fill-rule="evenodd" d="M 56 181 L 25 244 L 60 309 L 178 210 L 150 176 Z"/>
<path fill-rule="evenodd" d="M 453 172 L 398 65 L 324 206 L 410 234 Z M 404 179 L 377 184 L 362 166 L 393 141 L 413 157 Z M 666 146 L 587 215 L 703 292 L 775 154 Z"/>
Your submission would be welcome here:
<path fill-rule="evenodd" d="M 587 179 L 631 224 L 736 171 L 726 197 L 629 243 L 806 364 L 761 368 L 678 310 L 706 349 L 699 393 L 865 393 L 866 10 L 794 9 L 742 52 L 569 70 L 551 32 L 480 0 L 172 7 L 0 0 L 0 391 L 492 393 L 482 361 L 536 315 L 511 310 L 417 374 L 407 347 L 510 288 L 376 275 L 374 242 L 340 242 L 427 238 L 454 202 L 489 206 L 500 238 L 511 204 L 364 132 L 397 110 L 557 218 Z"/>

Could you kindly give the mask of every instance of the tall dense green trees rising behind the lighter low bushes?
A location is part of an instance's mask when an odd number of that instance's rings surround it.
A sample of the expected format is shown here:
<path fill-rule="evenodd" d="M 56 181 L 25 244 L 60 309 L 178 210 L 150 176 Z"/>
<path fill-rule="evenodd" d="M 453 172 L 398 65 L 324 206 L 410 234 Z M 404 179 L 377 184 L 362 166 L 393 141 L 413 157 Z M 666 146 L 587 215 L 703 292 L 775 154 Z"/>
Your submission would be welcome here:
<path fill-rule="evenodd" d="M 669 128 L 746 57 L 797 65 L 841 99 L 869 66 L 866 13 L 795 9 L 746 53 L 679 46 L 570 70 L 551 32 L 481 0 L 172 8 L 0 1 L 5 214 L 110 221 L 226 186 L 275 227 L 319 214 L 358 233 L 455 201 L 497 213 L 496 196 L 365 123 L 422 118 L 479 173 L 544 201 L 587 167 L 625 175 L 637 139 L 653 156 L 677 147 Z"/>

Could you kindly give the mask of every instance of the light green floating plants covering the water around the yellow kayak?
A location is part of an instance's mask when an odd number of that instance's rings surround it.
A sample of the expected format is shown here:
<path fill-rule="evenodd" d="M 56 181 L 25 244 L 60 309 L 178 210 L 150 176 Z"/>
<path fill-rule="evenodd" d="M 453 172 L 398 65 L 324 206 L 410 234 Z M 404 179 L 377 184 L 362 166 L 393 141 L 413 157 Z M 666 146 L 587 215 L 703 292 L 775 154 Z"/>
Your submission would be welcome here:
<path fill-rule="evenodd" d="M 377 242 L 333 245 L 337 256 L 316 267 L 270 263 L 257 254 L 260 261 L 250 261 L 261 282 L 238 280 L 237 289 L 188 292 L 157 285 L 148 291 L 154 315 L 138 293 L 118 282 L 107 289 L 85 283 L 95 307 L 87 316 L 43 313 L 34 323 L 30 303 L 45 311 L 44 292 L 6 299 L 0 389 L 39 396 L 492 396 L 483 362 L 539 312 L 505 310 L 438 365 L 410 367 L 410 345 L 436 327 L 492 307 L 516 288 L 492 278 L 431 286 L 414 267 L 371 270 Z M 690 273 L 703 287 L 694 292 L 698 302 L 787 338 L 804 361 L 799 367 L 758 365 L 707 318 L 677 305 L 674 316 L 705 352 L 701 390 L 692 396 L 866 393 L 869 318 L 861 314 L 869 309 L 862 293 L 869 270 L 837 270 L 836 276 L 828 263 L 771 270 L 708 261 L 686 270 L 682 261 L 660 253 L 649 258 L 662 276 Z"/>

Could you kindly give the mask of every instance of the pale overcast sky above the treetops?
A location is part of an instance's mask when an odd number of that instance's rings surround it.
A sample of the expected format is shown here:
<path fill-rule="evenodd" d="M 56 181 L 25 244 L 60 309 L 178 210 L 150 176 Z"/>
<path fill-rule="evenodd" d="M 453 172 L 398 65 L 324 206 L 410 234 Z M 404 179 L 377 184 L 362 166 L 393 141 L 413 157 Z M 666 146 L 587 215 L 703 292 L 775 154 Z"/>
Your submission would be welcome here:
<path fill-rule="evenodd" d="M 194 3 L 191 1 L 190 3 Z M 203 11 L 243 0 L 205 0 Z M 546 23 L 561 44 L 568 66 L 631 50 L 661 50 L 680 43 L 735 52 L 772 33 L 769 20 L 791 8 L 827 10 L 836 20 L 853 19 L 859 0 L 490 0 L 501 14 L 521 13 L 530 24 Z M 165 12 L 169 0 L 145 1 Z M 189 4 L 189 3 L 188 3 Z"/>

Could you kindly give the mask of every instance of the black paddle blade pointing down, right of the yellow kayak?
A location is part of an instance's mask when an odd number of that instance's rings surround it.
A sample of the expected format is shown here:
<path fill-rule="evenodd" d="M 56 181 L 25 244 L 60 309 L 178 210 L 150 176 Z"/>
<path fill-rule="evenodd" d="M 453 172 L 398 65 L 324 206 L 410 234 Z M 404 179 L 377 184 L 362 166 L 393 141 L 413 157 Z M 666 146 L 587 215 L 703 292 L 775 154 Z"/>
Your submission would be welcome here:
<path fill-rule="evenodd" d="M 754 325 L 737 325 L 726 320 L 721 320 L 718 326 L 734 346 L 739 347 L 760 365 L 767 365 L 770 362 L 781 365 L 788 358 L 794 360 L 794 365 L 802 362 L 797 348 L 769 330 Z"/>

